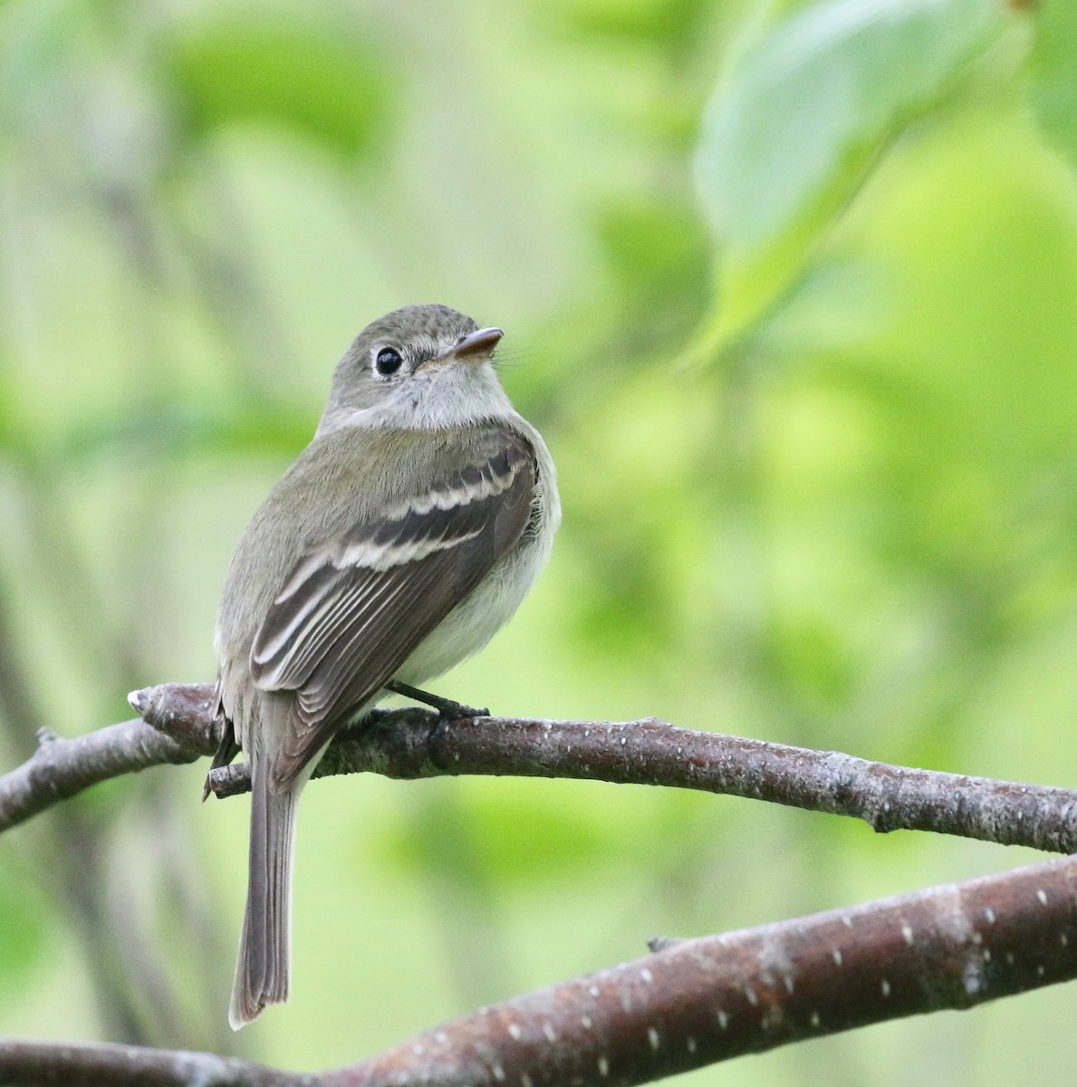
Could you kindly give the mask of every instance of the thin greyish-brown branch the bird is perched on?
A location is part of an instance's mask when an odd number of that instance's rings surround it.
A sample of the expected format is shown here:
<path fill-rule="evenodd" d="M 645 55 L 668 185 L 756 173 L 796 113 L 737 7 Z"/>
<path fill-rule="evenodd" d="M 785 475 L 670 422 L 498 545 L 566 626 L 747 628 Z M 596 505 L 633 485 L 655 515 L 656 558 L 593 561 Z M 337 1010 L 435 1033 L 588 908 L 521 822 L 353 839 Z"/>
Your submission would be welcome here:
<path fill-rule="evenodd" d="M 148 724 L 51 739 L 0 777 L 0 829 L 121 774 L 210 754 L 220 739 L 208 684 L 135 691 Z M 337 736 L 315 776 L 493 774 L 700 789 L 861 819 L 879 832 L 934 830 L 1006 846 L 1077 851 L 1077 792 L 868 762 L 835 751 L 677 728 L 661 721 L 464 717 L 375 713 Z M 243 765 L 215 771 L 218 796 L 250 788 Z"/>

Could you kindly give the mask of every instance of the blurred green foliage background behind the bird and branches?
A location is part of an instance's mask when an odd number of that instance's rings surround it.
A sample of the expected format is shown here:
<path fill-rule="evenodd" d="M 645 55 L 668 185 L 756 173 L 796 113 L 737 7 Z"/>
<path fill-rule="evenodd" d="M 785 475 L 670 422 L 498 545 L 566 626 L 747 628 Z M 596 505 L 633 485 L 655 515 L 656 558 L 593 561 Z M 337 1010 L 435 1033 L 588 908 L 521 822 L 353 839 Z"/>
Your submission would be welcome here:
<path fill-rule="evenodd" d="M 0 3 L 0 752 L 212 677 L 216 595 L 366 322 L 505 329 L 565 520 L 438 689 L 1077 778 L 1070 0 Z M 1023 850 L 597 783 L 320 782 L 292 1000 L 233 1035 L 204 764 L 0 839 L 0 1032 L 343 1064 Z M 1064 1082 L 1068 987 L 696 1083 Z"/>

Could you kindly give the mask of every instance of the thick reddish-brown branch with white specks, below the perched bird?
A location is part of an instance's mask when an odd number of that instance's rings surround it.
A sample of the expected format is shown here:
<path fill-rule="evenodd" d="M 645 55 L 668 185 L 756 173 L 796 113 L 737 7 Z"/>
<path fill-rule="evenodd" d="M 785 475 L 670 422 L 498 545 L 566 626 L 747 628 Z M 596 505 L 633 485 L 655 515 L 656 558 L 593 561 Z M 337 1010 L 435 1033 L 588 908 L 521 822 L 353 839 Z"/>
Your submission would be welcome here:
<path fill-rule="evenodd" d="M 676 941 L 331 1072 L 300 1077 L 204 1054 L 9 1042 L 0 1044 L 0 1084 L 627 1087 L 1074 977 L 1077 858 L 1065 858 Z M 177 1078 L 178 1062 L 188 1062 L 188 1078 Z"/>

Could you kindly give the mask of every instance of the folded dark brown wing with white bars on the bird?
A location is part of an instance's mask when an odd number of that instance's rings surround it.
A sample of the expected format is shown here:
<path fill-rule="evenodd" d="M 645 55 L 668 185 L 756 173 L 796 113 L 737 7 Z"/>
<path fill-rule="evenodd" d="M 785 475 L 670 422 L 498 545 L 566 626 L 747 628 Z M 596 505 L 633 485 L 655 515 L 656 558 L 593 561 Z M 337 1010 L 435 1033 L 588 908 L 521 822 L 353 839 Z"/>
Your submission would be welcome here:
<path fill-rule="evenodd" d="M 519 540 L 535 454 L 510 430 L 428 492 L 304 552 L 251 650 L 264 690 L 293 690 L 297 713 L 273 758 L 285 788 L 349 716 Z"/>

